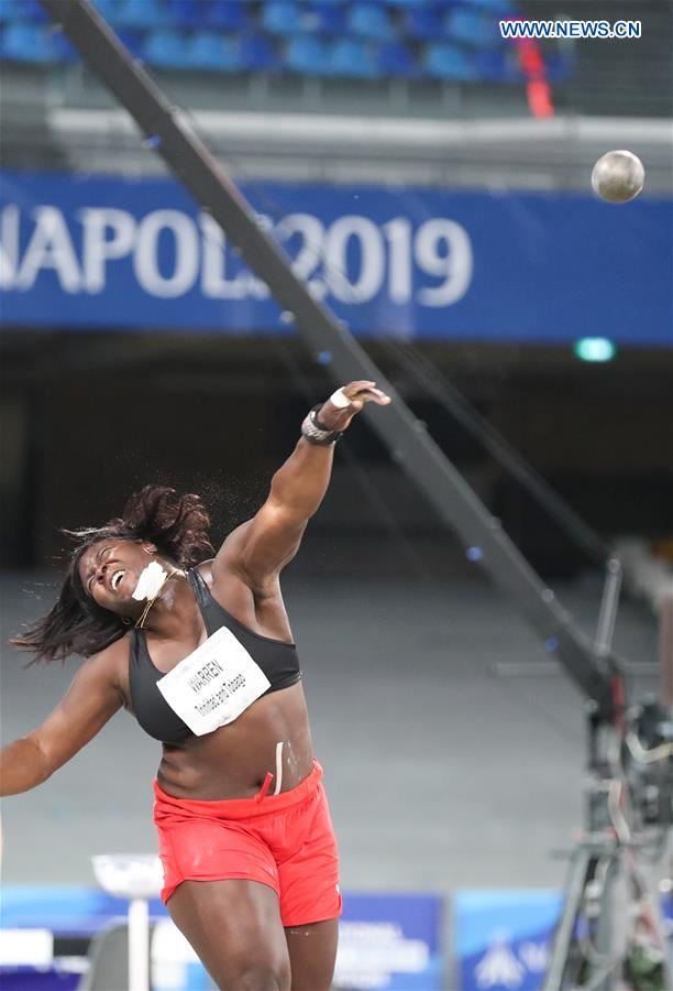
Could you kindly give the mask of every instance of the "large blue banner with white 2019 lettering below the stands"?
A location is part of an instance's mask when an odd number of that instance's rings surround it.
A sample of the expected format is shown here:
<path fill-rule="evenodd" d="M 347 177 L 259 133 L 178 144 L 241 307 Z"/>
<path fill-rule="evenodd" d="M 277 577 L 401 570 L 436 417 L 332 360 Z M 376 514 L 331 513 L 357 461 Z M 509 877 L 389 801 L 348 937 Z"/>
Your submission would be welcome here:
<path fill-rule="evenodd" d="M 178 183 L 0 181 L 4 325 L 291 331 Z M 242 192 L 357 335 L 673 345 L 672 200 L 271 182 Z"/>

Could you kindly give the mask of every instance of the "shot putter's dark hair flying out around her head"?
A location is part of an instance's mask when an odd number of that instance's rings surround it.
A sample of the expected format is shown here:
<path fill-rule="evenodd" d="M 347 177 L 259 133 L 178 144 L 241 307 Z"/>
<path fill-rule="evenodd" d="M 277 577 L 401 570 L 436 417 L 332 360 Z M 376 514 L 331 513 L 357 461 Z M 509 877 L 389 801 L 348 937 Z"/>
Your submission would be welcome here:
<path fill-rule="evenodd" d="M 125 627 L 119 616 L 89 596 L 79 577 L 79 562 L 87 547 L 106 540 L 147 541 L 162 557 L 179 568 L 190 568 L 213 553 L 210 518 L 199 496 L 178 496 L 175 489 L 145 486 L 126 502 L 121 516 L 103 526 L 63 530 L 76 542 L 60 595 L 42 619 L 27 625 L 10 643 L 32 651 L 31 662 L 65 661 L 70 654 L 89 657 L 119 640 Z"/>

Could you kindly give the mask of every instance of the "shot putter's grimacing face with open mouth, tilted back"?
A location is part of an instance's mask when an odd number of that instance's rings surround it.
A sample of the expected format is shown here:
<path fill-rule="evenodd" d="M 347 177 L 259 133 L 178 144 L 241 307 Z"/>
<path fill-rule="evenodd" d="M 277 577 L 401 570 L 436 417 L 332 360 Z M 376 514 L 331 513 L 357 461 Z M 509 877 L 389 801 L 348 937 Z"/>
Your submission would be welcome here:
<path fill-rule="evenodd" d="M 143 606 L 133 598 L 133 591 L 154 552 L 152 544 L 114 537 L 91 544 L 79 562 L 86 595 L 119 616 L 135 616 Z"/>

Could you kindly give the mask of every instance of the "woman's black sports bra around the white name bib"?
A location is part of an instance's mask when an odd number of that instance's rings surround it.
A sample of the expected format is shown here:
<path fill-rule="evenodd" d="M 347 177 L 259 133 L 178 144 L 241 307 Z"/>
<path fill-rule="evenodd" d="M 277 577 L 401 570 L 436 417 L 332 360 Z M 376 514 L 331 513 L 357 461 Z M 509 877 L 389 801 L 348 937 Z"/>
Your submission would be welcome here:
<path fill-rule="evenodd" d="M 203 576 L 197 568 L 188 571 L 187 577 L 199 611 L 203 617 L 208 635 L 211 636 L 222 627 L 231 630 L 271 682 L 271 688 L 267 688 L 266 695 L 269 691 L 278 691 L 280 688 L 289 688 L 290 685 L 296 685 L 300 680 L 301 671 L 297 647 L 294 643 L 284 643 L 282 640 L 262 636 L 240 623 L 219 602 L 216 602 Z M 164 677 L 164 674 L 165 672 L 159 671 L 152 662 L 145 631 L 134 630 L 129 658 L 129 684 L 135 718 L 145 732 L 155 740 L 162 740 L 164 743 L 179 743 L 191 737 L 192 733 L 156 687 L 156 683 Z"/>

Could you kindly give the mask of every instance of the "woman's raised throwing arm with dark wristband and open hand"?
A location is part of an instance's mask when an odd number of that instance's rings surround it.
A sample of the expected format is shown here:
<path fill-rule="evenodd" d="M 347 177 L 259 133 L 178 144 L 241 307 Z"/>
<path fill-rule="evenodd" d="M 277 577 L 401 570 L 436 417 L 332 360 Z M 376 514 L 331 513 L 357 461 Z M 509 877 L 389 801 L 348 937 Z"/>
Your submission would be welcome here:
<path fill-rule="evenodd" d="M 295 450 L 274 475 L 264 505 L 222 544 L 212 563 L 214 581 L 233 571 L 260 593 L 275 581 L 297 553 L 306 525 L 322 502 L 335 437 L 369 402 L 386 405 L 390 399 L 374 382 L 350 382 L 311 411 Z"/>

